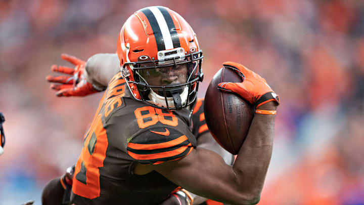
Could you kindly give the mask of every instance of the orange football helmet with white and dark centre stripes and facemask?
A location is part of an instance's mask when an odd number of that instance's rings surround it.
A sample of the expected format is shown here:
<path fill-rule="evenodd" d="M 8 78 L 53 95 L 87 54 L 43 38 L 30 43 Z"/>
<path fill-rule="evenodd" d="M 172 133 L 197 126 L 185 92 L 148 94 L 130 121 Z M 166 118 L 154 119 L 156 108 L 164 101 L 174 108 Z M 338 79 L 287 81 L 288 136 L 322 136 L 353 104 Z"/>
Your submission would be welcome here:
<path fill-rule="evenodd" d="M 121 28 L 117 54 L 136 100 L 167 110 L 196 101 L 203 80 L 202 50 L 191 26 L 176 12 L 165 7 L 135 12 Z"/>

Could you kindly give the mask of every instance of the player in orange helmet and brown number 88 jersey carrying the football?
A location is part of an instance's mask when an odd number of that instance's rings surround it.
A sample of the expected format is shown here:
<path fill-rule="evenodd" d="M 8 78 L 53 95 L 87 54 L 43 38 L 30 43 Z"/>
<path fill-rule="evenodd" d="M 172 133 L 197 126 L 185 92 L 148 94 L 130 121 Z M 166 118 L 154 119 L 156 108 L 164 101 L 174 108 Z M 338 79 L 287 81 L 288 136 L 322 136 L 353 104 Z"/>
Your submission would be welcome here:
<path fill-rule="evenodd" d="M 259 107 L 234 165 L 229 166 L 216 152 L 198 146 L 203 135 L 197 139 L 193 133 L 191 114 L 198 104 L 203 56 L 196 34 L 181 16 L 165 7 L 135 12 L 120 31 L 117 55 L 121 71 L 113 76 L 109 69 L 89 67 L 80 74 L 54 67 L 73 77 L 48 77 L 61 83 L 52 85 L 58 96 L 107 88 L 76 163 L 71 202 L 158 204 L 179 194 L 191 203 L 189 192 L 173 192 L 180 186 L 222 202 L 257 203 L 279 104 L 265 79 L 238 63 L 224 63 L 242 76 L 242 83 L 222 83 L 218 88 Z"/>

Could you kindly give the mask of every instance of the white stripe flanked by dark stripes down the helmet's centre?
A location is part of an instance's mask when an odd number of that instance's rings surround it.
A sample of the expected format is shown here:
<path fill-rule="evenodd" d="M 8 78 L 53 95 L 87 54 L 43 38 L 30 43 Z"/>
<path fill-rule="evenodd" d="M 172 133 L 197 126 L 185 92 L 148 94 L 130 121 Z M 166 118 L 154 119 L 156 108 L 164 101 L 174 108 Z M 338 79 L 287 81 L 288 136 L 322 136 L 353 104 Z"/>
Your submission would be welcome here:
<path fill-rule="evenodd" d="M 147 17 L 152 27 L 158 51 L 180 47 L 172 17 L 164 7 L 148 7 L 141 12 Z"/>

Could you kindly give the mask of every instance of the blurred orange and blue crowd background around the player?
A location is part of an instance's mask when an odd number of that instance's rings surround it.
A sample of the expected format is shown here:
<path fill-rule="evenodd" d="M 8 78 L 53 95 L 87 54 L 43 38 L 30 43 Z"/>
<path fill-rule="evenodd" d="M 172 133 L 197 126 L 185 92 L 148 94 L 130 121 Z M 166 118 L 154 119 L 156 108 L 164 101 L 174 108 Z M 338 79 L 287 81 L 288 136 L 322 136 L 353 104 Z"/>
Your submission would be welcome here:
<path fill-rule="evenodd" d="M 166 6 L 194 28 L 204 97 L 224 61 L 261 74 L 282 104 L 259 204 L 364 204 L 364 1 L 0 1 L 0 204 L 40 204 L 76 162 L 101 94 L 57 98 L 45 75 L 114 53 L 123 22 Z"/>

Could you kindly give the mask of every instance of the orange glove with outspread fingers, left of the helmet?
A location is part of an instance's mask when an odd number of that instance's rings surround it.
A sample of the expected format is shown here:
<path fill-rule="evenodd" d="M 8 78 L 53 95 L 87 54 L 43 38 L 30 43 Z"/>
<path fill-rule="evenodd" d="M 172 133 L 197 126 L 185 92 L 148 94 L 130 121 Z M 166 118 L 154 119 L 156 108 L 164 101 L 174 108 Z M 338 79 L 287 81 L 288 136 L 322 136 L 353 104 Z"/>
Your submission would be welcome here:
<path fill-rule="evenodd" d="M 83 75 L 86 62 L 80 60 L 74 56 L 67 54 L 62 54 L 62 59 L 69 61 L 75 68 L 52 65 L 51 70 L 54 72 L 64 73 L 72 76 L 53 76 L 48 75 L 47 80 L 51 83 L 50 88 L 58 91 L 56 95 L 58 97 L 62 96 L 86 96 L 89 94 L 97 93 L 103 91 L 102 88 L 98 88 L 88 83 Z"/>

